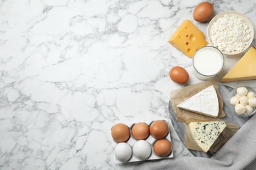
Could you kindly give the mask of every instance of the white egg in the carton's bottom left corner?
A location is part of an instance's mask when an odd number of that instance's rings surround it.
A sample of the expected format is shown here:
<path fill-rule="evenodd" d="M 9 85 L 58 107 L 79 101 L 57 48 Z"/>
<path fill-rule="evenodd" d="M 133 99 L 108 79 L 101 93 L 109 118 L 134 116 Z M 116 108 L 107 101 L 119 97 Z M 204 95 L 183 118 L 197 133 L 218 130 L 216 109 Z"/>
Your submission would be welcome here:
<path fill-rule="evenodd" d="M 132 155 L 131 146 L 127 143 L 118 143 L 114 148 L 114 154 L 119 161 L 127 161 Z"/>

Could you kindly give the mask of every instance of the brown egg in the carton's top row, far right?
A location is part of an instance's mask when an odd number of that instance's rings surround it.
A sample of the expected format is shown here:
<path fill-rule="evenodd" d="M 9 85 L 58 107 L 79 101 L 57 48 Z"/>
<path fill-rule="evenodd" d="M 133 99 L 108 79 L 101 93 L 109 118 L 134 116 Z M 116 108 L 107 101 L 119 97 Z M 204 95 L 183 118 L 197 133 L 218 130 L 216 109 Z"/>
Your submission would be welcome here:
<path fill-rule="evenodd" d="M 150 125 L 150 135 L 156 139 L 163 139 L 169 132 L 168 125 L 163 120 L 155 120 Z"/>

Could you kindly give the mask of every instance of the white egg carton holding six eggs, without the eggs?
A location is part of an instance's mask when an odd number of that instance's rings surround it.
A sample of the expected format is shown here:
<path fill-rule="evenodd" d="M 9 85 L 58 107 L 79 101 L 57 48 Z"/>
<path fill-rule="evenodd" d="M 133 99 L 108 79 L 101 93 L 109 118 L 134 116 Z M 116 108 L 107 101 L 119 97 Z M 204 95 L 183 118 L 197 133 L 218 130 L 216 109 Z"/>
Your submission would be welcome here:
<path fill-rule="evenodd" d="M 165 136 L 165 138 L 163 139 L 167 139 L 168 141 L 170 141 L 171 143 L 171 134 L 170 134 L 170 127 L 169 127 L 169 123 L 167 120 L 165 119 L 162 119 L 163 121 L 165 121 L 168 125 L 168 134 Z M 152 121 L 147 121 L 147 122 L 144 122 L 148 125 L 148 127 L 150 127 L 150 124 L 152 124 L 152 122 L 154 122 L 155 120 L 152 120 Z M 139 123 L 139 122 L 137 122 Z M 133 145 L 138 141 L 137 139 L 135 139 L 131 133 L 131 127 L 133 127 L 136 123 L 133 123 L 133 124 L 125 124 L 129 127 L 130 129 L 130 138 L 128 139 L 128 141 L 126 141 L 125 143 L 129 144 L 133 150 Z M 113 127 L 113 126 L 112 126 Z M 163 160 L 163 159 L 168 159 L 168 158 L 173 158 L 173 144 L 171 143 L 171 146 L 172 146 L 172 150 L 171 150 L 171 153 L 168 155 L 168 156 L 165 156 L 165 157 L 159 157 L 157 156 L 155 153 L 154 153 L 154 143 L 156 143 L 156 141 L 158 141 L 159 139 L 156 139 L 154 137 L 152 137 L 152 135 L 148 135 L 148 137 L 146 139 L 144 139 L 145 141 L 147 141 L 150 146 L 151 146 L 151 154 L 148 158 L 144 159 L 144 160 L 140 160 L 139 158 L 137 158 L 135 156 L 135 154 L 132 153 L 132 156 L 131 158 L 128 160 L 128 161 L 119 161 L 117 160 L 115 154 L 114 154 L 114 161 L 115 163 L 132 163 L 132 162 L 138 162 L 138 161 L 149 161 L 149 160 Z M 113 150 L 116 146 L 116 144 L 118 144 L 116 141 L 114 141 L 114 139 L 112 139 L 113 141 Z"/>

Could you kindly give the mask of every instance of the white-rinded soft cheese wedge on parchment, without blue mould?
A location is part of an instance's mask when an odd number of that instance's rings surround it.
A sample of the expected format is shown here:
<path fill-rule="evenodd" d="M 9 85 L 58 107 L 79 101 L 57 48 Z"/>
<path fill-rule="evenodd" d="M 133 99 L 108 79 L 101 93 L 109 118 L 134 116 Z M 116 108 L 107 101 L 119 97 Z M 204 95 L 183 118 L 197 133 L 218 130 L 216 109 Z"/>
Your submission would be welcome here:
<path fill-rule="evenodd" d="M 219 114 L 219 100 L 214 86 L 211 85 L 201 92 L 196 93 L 179 104 L 178 107 L 216 118 Z"/>

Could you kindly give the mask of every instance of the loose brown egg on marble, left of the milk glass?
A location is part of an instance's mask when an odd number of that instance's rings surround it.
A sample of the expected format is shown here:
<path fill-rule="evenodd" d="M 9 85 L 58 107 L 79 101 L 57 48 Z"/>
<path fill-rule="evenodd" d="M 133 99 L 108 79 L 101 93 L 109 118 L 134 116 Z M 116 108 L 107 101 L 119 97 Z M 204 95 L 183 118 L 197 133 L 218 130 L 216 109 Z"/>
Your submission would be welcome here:
<path fill-rule="evenodd" d="M 179 84 L 186 84 L 189 79 L 188 72 L 179 66 L 173 67 L 169 72 L 169 76 L 173 82 L 177 82 Z"/>

